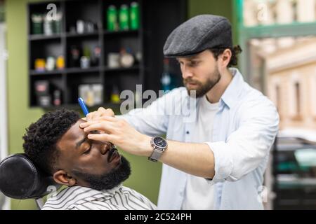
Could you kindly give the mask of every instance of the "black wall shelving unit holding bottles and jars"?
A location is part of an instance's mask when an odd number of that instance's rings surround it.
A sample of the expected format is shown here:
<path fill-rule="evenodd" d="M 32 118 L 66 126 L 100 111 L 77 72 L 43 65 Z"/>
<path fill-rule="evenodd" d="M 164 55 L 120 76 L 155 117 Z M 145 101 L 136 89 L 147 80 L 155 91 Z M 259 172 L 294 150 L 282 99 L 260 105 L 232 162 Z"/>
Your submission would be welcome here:
<path fill-rule="evenodd" d="M 27 5 L 28 31 L 28 65 L 29 65 L 29 106 L 38 107 L 35 93 L 35 82 L 48 80 L 53 89 L 62 93 L 60 106 L 76 107 L 78 87 L 81 84 L 102 84 L 103 104 L 96 106 L 113 107 L 110 93 L 114 85 L 122 90 L 136 90 L 136 85 L 143 86 L 143 91 L 160 90 L 160 78 L 163 69 L 162 48 L 170 32 L 187 18 L 187 2 L 185 0 L 136 0 L 140 8 L 140 27 L 137 30 L 108 31 L 107 8 L 114 5 L 119 10 L 122 4 L 131 6 L 129 0 L 60 0 L 53 1 L 58 12 L 62 13 L 61 31 L 46 36 L 33 34 L 31 16 L 34 13 L 47 13 L 51 1 L 29 3 Z M 74 31 L 77 20 L 93 22 L 95 30 L 79 34 Z M 70 49 L 72 45 L 82 48 L 99 46 L 101 57 L 99 64 L 86 69 L 72 66 Z M 142 59 L 129 68 L 109 68 L 107 54 L 119 52 L 121 48 L 129 48 L 133 53 L 140 52 Z M 34 61 L 49 56 L 63 56 L 65 68 L 53 71 L 36 71 Z M 171 62 L 171 72 L 180 76 L 176 62 Z M 58 108 L 51 104 L 48 108 Z"/>

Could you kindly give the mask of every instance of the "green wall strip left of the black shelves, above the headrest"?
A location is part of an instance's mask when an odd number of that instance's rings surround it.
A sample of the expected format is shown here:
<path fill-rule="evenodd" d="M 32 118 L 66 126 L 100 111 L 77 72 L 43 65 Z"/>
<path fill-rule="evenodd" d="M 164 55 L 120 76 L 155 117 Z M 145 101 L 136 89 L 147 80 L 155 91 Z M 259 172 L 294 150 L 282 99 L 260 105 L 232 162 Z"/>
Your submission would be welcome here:
<path fill-rule="evenodd" d="M 6 1 L 8 45 L 8 144 L 9 153 L 22 152 L 22 135 L 43 111 L 29 109 L 27 99 L 26 1 Z M 12 209 L 34 209 L 30 200 L 12 200 Z"/>

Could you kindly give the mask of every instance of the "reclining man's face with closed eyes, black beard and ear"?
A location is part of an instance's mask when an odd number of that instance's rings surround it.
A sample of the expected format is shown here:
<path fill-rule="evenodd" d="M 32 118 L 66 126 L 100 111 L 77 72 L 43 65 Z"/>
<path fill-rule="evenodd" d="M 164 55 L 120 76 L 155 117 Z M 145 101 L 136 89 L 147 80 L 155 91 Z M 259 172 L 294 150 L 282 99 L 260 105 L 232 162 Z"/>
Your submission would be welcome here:
<path fill-rule="evenodd" d="M 129 162 L 110 143 L 88 139 L 78 120 L 58 141 L 59 151 L 53 174 L 56 182 L 96 190 L 111 189 L 131 174 Z"/>

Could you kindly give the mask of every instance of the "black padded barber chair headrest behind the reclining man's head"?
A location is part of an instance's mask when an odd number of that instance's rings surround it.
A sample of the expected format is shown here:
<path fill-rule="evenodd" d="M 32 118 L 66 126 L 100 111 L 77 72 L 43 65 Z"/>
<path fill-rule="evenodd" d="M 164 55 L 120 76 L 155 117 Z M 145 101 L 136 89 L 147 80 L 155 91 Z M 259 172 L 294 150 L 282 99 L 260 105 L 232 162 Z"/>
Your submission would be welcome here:
<path fill-rule="evenodd" d="M 34 199 L 41 209 L 42 197 L 59 188 L 53 177 L 37 169 L 24 153 L 10 155 L 0 162 L 0 191 L 7 197 Z"/>

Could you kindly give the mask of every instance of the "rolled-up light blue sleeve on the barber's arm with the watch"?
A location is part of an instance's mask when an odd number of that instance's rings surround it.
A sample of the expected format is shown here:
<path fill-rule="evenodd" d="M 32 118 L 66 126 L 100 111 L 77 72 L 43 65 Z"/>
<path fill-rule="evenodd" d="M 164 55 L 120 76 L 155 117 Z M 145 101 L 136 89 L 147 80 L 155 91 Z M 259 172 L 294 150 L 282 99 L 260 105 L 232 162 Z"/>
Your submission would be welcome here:
<path fill-rule="evenodd" d="M 268 99 L 247 102 L 239 111 L 239 127 L 227 141 L 206 142 L 214 155 L 215 176 L 210 183 L 238 181 L 268 155 L 279 127 L 279 115 Z"/>

